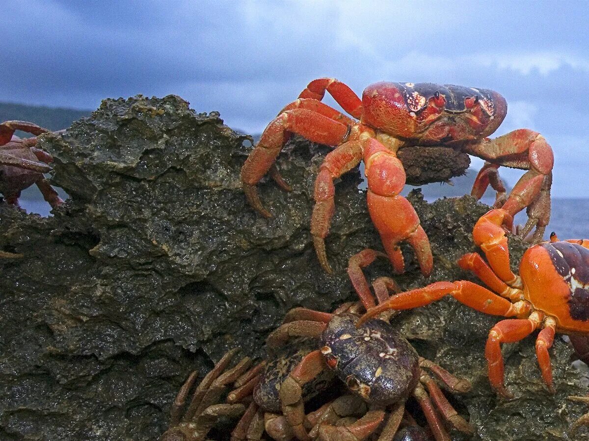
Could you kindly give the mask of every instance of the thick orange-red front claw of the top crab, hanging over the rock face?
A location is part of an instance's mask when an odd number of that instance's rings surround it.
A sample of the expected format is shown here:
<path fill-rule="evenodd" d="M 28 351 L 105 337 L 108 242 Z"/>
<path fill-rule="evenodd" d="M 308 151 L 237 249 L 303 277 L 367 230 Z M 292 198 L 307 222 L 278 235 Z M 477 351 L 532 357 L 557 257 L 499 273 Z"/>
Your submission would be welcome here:
<path fill-rule="evenodd" d="M 399 248 L 399 242 L 405 241 L 415 251 L 421 272 L 428 276 L 434 266 L 432 250 L 415 209 L 399 195 L 406 178 L 401 161 L 383 143 L 369 138 L 364 143 L 364 163 L 368 180 L 368 211 L 393 269 L 398 273 L 405 269 Z"/>

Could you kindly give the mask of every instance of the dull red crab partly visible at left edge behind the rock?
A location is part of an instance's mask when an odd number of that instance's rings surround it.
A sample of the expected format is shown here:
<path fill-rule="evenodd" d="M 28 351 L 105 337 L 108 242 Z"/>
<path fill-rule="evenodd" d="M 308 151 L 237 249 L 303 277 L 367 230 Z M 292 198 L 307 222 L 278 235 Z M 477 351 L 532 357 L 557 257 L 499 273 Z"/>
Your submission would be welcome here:
<path fill-rule="evenodd" d="M 14 136 L 16 130 L 32 133 L 35 138 L 21 139 Z M 53 208 L 63 202 L 43 176 L 51 170 L 47 164 L 53 162 L 53 158 L 35 148 L 36 136 L 45 132 L 48 130 L 31 122 L 6 121 L 0 124 L 0 193 L 6 202 L 18 206 L 21 191 L 33 184 Z"/>

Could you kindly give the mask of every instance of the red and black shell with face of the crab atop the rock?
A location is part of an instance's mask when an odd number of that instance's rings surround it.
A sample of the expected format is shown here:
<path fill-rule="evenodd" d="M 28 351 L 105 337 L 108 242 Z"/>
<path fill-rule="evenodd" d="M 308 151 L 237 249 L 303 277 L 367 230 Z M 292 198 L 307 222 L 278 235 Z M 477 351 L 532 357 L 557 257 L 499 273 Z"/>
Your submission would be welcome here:
<path fill-rule="evenodd" d="M 364 90 L 362 106 L 363 123 L 420 145 L 486 138 L 507 113 L 495 91 L 435 83 L 375 83 Z"/>

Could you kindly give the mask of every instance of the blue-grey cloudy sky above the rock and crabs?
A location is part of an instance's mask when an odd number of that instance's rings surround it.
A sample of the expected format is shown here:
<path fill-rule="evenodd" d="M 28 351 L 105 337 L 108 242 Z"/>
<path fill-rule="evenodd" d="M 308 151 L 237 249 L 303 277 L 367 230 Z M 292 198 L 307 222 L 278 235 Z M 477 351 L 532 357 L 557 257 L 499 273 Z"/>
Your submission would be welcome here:
<path fill-rule="evenodd" d="M 256 133 L 322 76 L 358 94 L 383 80 L 489 88 L 508 101 L 496 134 L 541 132 L 553 194 L 587 196 L 586 2 L 11 0 L 2 15 L 0 101 L 176 93 Z"/>

